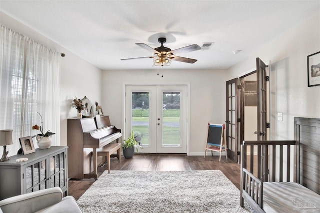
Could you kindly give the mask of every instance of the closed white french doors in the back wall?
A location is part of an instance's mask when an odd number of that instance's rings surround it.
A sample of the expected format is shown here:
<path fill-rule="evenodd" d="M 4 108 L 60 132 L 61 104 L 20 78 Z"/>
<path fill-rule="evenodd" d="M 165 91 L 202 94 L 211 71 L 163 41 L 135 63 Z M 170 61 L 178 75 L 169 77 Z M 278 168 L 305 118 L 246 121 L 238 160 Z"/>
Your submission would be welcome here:
<path fill-rule="evenodd" d="M 141 153 L 186 153 L 186 85 L 126 85 L 125 134 L 141 136 Z"/>

